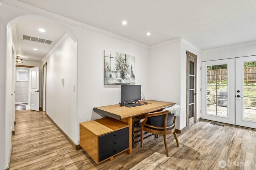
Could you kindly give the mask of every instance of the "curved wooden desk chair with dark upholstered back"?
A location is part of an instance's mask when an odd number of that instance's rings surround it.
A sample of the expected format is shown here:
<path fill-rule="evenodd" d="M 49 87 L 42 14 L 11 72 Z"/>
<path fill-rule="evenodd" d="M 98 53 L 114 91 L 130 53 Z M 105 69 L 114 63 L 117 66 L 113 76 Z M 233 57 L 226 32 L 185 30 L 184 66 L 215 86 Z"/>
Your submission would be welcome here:
<path fill-rule="evenodd" d="M 166 135 L 173 133 L 177 147 L 179 147 L 178 138 L 175 133 L 175 119 L 176 116 L 173 113 L 168 113 L 168 110 L 146 114 L 145 120 L 140 125 L 140 147 L 143 147 L 143 131 L 156 135 L 164 135 L 165 151 L 168 157 Z"/>

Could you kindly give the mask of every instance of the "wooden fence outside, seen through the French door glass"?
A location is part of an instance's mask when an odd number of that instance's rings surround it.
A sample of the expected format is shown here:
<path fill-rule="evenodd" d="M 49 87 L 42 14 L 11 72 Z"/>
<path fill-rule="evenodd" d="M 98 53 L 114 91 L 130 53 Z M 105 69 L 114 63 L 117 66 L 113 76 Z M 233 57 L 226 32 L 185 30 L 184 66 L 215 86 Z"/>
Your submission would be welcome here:
<path fill-rule="evenodd" d="M 222 81 L 228 79 L 227 69 L 207 70 L 207 81 Z M 256 67 L 244 68 L 244 81 L 256 82 Z"/>

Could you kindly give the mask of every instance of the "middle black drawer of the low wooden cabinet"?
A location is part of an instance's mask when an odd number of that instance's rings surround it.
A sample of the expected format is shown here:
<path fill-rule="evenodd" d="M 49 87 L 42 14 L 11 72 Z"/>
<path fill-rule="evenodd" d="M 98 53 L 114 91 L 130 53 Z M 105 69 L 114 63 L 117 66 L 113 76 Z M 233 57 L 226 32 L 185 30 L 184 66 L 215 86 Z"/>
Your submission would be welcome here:
<path fill-rule="evenodd" d="M 99 145 L 99 154 L 129 141 L 129 135 L 124 135 L 107 143 Z"/>

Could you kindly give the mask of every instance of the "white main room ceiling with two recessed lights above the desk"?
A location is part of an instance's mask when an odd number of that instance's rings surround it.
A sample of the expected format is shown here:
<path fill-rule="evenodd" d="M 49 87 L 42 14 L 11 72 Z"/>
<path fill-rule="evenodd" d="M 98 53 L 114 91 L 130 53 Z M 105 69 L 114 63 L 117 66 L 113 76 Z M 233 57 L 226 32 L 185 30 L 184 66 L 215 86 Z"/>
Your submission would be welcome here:
<path fill-rule="evenodd" d="M 204 50 L 256 41 L 256 0 L 19 1 L 146 45 L 183 37 Z"/>

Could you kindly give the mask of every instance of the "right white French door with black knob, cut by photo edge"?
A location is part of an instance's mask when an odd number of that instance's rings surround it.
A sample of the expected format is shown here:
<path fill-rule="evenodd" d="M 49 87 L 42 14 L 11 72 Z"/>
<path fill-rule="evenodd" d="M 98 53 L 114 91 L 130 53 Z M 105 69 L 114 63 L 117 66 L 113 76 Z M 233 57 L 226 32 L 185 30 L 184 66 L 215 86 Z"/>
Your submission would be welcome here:
<path fill-rule="evenodd" d="M 256 56 L 236 58 L 236 125 L 256 129 Z"/>

